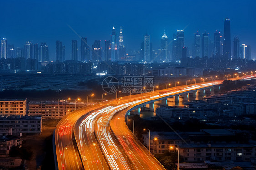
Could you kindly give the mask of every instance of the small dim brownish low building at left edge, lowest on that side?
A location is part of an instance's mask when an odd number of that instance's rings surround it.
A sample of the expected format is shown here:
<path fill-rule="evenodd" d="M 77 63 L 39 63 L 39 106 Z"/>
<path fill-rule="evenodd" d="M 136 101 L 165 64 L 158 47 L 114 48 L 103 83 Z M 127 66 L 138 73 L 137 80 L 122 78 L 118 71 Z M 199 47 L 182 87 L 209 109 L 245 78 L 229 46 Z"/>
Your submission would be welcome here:
<path fill-rule="evenodd" d="M 9 157 L 10 149 L 13 146 L 21 147 L 21 137 L 16 136 L 0 136 L 0 157 Z"/>

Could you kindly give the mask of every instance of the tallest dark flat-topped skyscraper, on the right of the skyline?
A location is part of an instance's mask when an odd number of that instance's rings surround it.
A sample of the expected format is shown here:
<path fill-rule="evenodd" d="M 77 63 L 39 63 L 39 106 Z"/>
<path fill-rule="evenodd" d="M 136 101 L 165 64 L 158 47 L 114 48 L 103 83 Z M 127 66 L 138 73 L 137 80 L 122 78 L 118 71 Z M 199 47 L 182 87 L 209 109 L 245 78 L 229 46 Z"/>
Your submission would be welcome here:
<path fill-rule="evenodd" d="M 231 59 L 231 31 L 229 18 L 225 18 L 224 20 L 223 55 L 225 55 L 226 58 Z"/>

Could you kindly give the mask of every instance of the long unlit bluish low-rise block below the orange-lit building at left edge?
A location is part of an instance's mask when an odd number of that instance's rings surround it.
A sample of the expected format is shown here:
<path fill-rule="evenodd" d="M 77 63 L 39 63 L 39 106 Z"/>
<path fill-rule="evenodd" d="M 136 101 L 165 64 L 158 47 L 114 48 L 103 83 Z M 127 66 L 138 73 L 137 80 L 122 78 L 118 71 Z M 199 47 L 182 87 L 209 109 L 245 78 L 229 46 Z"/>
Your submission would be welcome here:
<path fill-rule="evenodd" d="M 12 127 L 12 134 L 40 134 L 42 131 L 42 117 L 40 116 L 2 116 L 0 128 Z"/>

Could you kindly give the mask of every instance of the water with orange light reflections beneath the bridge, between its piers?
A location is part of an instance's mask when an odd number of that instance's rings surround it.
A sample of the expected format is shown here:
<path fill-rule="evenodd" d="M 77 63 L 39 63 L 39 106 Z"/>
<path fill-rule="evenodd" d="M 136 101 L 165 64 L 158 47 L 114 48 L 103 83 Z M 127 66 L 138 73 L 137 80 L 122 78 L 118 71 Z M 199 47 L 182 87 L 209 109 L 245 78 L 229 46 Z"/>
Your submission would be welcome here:
<path fill-rule="evenodd" d="M 196 94 L 194 95 L 179 95 L 179 100 L 175 102 L 175 97 L 170 97 L 167 100 L 167 105 L 168 106 L 184 106 L 184 102 L 187 101 L 193 101 L 193 100 L 202 100 L 203 97 L 207 97 L 211 94 L 210 90 L 208 91 L 197 91 Z M 140 112 L 140 117 L 141 118 L 148 118 L 148 117 L 155 117 L 156 116 L 156 108 L 163 106 L 162 105 L 162 100 L 160 101 L 155 101 L 154 102 L 154 111 L 153 110 L 145 110 L 142 109 Z M 149 104 L 146 105 L 147 108 L 149 108 Z"/>

